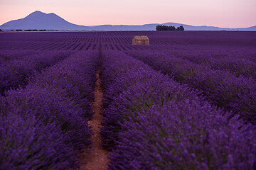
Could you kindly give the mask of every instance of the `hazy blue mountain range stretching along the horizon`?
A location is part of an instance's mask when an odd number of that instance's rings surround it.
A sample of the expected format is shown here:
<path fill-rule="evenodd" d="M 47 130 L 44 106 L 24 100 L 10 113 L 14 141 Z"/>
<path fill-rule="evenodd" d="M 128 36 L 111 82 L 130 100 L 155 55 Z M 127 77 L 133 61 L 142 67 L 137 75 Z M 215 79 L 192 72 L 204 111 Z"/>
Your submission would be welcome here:
<path fill-rule="evenodd" d="M 256 26 L 249 28 L 219 28 L 213 26 L 190 26 L 183 23 L 151 23 L 145 25 L 102 25 L 102 26 L 79 26 L 65 21 L 55 13 L 43 13 L 35 11 L 25 18 L 9 21 L 0 26 L 1 30 L 156 30 L 157 25 L 183 26 L 185 30 L 254 30 Z"/>

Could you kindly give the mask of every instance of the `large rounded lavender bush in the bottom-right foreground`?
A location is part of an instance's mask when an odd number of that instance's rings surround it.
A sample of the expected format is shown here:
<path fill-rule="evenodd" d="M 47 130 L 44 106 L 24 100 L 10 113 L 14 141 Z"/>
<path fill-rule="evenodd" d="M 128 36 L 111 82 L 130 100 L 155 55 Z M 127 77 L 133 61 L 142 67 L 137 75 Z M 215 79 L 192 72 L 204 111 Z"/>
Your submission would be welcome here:
<path fill-rule="evenodd" d="M 132 113 L 109 169 L 255 169 L 255 127 L 240 127 L 237 118 L 194 100 Z"/>

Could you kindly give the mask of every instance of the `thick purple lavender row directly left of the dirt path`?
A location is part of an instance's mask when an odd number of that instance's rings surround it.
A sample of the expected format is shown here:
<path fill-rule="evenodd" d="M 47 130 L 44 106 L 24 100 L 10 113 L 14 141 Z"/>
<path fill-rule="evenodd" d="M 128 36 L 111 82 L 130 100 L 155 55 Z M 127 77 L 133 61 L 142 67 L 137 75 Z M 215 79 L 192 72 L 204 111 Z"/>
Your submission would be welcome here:
<path fill-rule="evenodd" d="M 75 53 L 0 99 L 3 169 L 78 169 L 90 147 L 98 52 Z"/>

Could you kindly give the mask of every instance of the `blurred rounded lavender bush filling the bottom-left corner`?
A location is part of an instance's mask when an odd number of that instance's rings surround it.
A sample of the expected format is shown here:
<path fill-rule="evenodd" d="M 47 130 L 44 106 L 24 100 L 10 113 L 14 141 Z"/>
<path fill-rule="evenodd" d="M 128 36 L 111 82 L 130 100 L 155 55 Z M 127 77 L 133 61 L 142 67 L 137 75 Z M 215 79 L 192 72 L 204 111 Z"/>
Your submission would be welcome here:
<path fill-rule="evenodd" d="M 6 113 L 0 116 L 1 169 L 73 169 L 75 152 L 60 126 L 43 123 L 34 115 Z"/>

